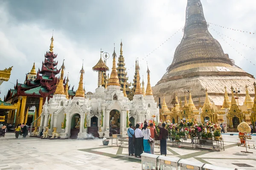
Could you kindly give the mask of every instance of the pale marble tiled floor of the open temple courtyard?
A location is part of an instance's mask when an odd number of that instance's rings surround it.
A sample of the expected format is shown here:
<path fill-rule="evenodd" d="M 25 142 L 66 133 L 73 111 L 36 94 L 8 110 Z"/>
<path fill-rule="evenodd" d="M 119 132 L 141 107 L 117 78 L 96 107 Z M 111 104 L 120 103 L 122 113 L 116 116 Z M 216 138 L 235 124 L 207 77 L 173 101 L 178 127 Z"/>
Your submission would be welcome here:
<path fill-rule="evenodd" d="M 224 151 L 196 150 L 167 147 L 170 157 L 179 157 L 203 163 L 235 167 L 239 170 L 256 169 L 256 149 L 241 153 L 238 136 L 223 134 Z M 252 137 L 252 141 L 256 136 Z M 0 137 L 0 170 L 141 170 L 141 160 L 128 156 L 128 148 L 116 145 L 103 146 L 102 139 L 39 139 L 19 137 L 6 133 Z M 155 154 L 160 154 L 158 146 Z M 236 164 L 242 164 L 239 167 Z"/>

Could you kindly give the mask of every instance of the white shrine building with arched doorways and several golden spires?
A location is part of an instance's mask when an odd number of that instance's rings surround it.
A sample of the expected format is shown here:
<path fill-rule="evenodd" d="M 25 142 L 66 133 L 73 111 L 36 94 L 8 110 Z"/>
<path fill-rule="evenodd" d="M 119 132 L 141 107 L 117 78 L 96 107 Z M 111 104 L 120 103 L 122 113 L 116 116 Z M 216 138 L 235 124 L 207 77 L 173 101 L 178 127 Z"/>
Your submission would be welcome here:
<path fill-rule="evenodd" d="M 95 67 L 108 68 L 102 58 Z M 46 100 L 41 114 L 39 129 L 44 128 L 44 132 L 48 130 L 49 136 L 57 133 L 61 138 L 86 139 L 90 136 L 88 133 L 106 138 L 111 134 L 122 133 L 122 136 L 126 137 L 129 122 L 135 126 L 136 123 L 152 119 L 153 116 L 156 116 L 154 121 L 159 120 L 159 108 L 152 94 L 149 70 L 147 70 L 146 93 L 143 93 L 140 86 L 139 68 L 137 69 L 137 86 L 132 101 L 126 96 L 125 88 L 123 91 L 120 90 L 115 50 L 107 88 L 102 87 L 103 72 L 99 71 L 98 88 L 94 94 L 90 94 L 90 99 L 84 94 L 83 68 L 80 73 L 76 96 L 68 99 L 68 79 L 66 91 L 63 83 L 64 63 L 61 66 L 61 77 L 55 95 L 48 102 Z"/>

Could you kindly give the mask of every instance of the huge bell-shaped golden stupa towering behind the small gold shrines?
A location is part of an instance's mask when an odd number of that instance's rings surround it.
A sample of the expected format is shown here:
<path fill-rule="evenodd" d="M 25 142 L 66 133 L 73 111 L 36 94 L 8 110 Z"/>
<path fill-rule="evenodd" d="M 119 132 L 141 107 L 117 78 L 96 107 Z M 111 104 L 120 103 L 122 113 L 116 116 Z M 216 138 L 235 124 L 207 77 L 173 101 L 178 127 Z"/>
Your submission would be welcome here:
<path fill-rule="evenodd" d="M 172 106 L 173 93 L 181 96 L 184 101 L 183 92 L 186 89 L 192 89 L 195 105 L 198 105 L 199 97 L 205 99 L 206 87 L 210 102 L 216 106 L 223 105 L 225 86 L 240 88 L 239 105 L 243 105 L 246 85 L 249 86 L 248 93 L 254 96 L 253 75 L 236 66 L 209 33 L 200 0 L 187 1 L 183 39 L 166 71 L 152 90 L 156 100 L 165 94 L 169 107 Z M 228 93 L 231 94 L 230 91 Z M 226 99 L 230 105 L 227 96 Z"/>

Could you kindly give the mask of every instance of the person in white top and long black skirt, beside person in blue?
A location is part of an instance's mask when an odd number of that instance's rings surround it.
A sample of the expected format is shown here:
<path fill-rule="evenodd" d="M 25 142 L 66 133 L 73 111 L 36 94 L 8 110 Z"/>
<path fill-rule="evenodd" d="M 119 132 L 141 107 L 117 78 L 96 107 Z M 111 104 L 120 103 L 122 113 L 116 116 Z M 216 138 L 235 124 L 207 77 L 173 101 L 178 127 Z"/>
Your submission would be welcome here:
<path fill-rule="evenodd" d="M 136 129 L 134 131 L 135 138 L 135 157 L 139 156 L 141 158 L 141 154 L 143 153 L 143 133 L 140 130 L 140 125 L 136 124 Z"/>

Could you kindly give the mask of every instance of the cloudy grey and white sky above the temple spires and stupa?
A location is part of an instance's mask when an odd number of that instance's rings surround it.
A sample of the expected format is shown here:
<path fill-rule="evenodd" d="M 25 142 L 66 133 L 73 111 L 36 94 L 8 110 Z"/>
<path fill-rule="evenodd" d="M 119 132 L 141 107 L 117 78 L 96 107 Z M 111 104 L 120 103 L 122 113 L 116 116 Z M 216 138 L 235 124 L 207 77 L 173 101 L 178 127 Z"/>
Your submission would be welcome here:
<path fill-rule="evenodd" d="M 175 48 L 183 36 L 186 2 L 0 0 L 0 70 L 13 66 L 9 82 L 0 86 L 0 97 L 3 99 L 17 79 L 20 83 L 24 82 L 34 61 L 36 69 L 41 69 L 44 54 L 49 50 L 52 30 L 54 52 L 58 54 L 56 60 L 61 63 L 65 59 L 65 75 L 69 72 L 71 87 L 78 87 L 84 59 L 85 90 L 94 92 L 97 73 L 92 71 L 92 67 L 99 60 L 100 49 L 112 54 L 115 43 L 119 55 L 121 39 L 129 81 L 133 79 L 135 59 L 139 57 L 141 75 L 144 74 L 146 80 L 148 61 L 151 85 L 155 85 L 171 64 Z M 210 33 L 221 43 L 224 52 L 235 60 L 236 65 L 256 75 L 253 65 L 256 64 L 256 0 L 201 2 L 208 23 L 255 33 L 209 24 Z M 157 50 L 151 53 L 155 48 Z M 111 64 L 112 58 L 107 61 L 109 68 Z"/>

